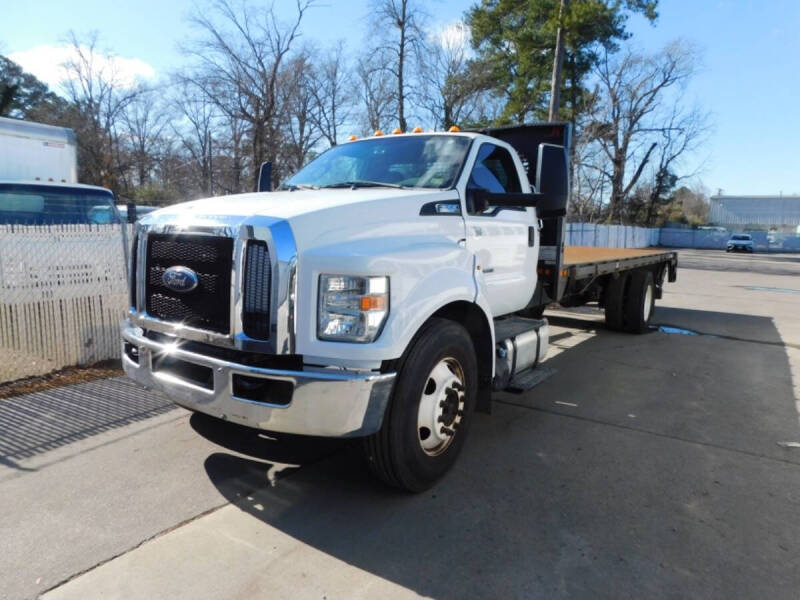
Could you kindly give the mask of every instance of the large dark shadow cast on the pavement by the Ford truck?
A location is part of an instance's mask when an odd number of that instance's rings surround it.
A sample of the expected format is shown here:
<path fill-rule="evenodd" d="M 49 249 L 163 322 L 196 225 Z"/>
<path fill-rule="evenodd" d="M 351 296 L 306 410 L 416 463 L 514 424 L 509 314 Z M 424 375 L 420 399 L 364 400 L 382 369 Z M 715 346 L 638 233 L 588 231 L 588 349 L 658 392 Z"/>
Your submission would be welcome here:
<path fill-rule="evenodd" d="M 780 335 L 765 317 L 656 317 L 711 335 L 598 331 L 534 390 L 497 394 L 418 495 L 372 481 L 352 443 L 192 426 L 227 449 L 204 467 L 239 509 L 424 596 L 792 597 L 800 454 L 776 442 L 800 427 Z"/>

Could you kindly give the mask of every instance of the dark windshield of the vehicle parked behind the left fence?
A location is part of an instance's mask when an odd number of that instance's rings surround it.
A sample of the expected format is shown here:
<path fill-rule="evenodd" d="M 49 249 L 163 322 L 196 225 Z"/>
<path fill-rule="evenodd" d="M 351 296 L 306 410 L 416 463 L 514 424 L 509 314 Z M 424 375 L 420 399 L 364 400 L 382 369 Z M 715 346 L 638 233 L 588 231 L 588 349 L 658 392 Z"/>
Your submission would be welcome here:
<path fill-rule="evenodd" d="M 0 225 L 119 223 L 111 192 L 35 184 L 0 184 Z"/>

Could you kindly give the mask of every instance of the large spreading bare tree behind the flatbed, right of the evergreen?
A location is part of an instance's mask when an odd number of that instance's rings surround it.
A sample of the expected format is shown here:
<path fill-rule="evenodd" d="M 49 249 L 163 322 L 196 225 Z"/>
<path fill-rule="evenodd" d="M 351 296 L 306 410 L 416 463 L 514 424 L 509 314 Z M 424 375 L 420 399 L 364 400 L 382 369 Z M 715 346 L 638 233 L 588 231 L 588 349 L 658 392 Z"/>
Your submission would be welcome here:
<path fill-rule="evenodd" d="M 598 166 L 611 184 L 608 219 L 619 222 L 628 194 L 639 182 L 659 141 L 653 134 L 669 129 L 659 119 L 665 102 L 694 74 L 696 52 L 685 42 L 673 42 L 646 56 L 625 49 L 619 57 L 608 53 L 596 70 L 599 85 L 592 122 L 587 133 L 597 140 L 608 163 Z"/>

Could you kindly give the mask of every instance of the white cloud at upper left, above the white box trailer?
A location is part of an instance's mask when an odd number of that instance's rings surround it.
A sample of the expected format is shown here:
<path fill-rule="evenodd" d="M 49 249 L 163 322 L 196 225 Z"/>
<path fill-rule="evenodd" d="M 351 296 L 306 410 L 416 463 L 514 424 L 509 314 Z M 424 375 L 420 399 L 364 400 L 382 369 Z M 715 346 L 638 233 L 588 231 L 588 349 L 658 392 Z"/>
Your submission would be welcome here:
<path fill-rule="evenodd" d="M 82 46 L 81 51 L 86 55 L 90 52 L 86 46 Z M 72 60 L 75 54 L 75 49 L 71 46 L 43 45 L 12 52 L 8 57 L 53 90 L 58 90 L 60 84 L 67 79 L 64 63 Z M 133 87 L 137 81 L 153 79 L 156 75 L 156 70 L 150 64 L 138 58 L 124 58 L 95 50 L 92 60 L 97 73 L 114 77 L 121 87 Z"/>

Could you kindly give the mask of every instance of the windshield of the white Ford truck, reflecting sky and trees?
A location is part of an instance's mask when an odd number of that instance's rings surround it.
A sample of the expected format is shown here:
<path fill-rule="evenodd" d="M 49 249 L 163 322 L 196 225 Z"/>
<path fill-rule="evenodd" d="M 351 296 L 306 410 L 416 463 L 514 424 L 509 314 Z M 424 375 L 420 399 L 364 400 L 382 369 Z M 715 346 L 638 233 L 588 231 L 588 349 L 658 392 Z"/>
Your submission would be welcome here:
<path fill-rule="evenodd" d="M 413 135 L 374 138 L 334 146 L 280 189 L 375 186 L 452 187 L 467 155 L 470 138 Z"/>

